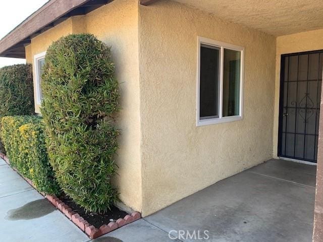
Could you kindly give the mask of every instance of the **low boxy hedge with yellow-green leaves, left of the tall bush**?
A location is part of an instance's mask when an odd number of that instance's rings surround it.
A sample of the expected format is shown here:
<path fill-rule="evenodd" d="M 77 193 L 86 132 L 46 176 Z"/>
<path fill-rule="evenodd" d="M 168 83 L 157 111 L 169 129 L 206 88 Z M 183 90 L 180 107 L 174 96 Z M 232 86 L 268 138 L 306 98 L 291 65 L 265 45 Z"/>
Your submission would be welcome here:
<path fill-rule="evenodd" d="M 37 116 L 1 118 L 1 139 L 13 167 L 33 181 L 38 191 L 59 194 L 45 146 L 44 127 Z"/>

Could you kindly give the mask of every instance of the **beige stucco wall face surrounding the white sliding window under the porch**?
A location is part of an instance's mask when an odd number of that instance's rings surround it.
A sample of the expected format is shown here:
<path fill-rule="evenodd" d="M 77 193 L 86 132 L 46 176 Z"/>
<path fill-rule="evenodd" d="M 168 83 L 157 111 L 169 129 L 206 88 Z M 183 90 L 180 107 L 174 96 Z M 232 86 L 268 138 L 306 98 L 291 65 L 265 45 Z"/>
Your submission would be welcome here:
<path fill-rule="evenodd" d="M 171 1 L 139 14 L 146 216 L 272 158 L 276 38 Z M 245 47 L 243 120 L 196 127 L 197 36 Z"/>

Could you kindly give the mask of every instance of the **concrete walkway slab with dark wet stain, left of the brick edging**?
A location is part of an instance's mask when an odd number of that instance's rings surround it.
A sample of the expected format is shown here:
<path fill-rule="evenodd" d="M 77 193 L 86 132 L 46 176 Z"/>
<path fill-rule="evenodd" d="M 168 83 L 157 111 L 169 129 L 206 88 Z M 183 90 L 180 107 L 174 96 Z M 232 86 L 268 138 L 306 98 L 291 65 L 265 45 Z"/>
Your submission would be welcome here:
<path fill-rule="evenodd" d="M 89 241 L 35 190 L 0 198 L 1 241 Z"/>

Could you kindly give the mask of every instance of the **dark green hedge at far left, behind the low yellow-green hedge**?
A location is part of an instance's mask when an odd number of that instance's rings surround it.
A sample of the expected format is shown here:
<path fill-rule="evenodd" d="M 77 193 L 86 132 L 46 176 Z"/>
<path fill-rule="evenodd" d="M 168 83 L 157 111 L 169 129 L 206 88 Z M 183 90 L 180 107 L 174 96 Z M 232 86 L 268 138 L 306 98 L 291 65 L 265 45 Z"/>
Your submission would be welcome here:
<path fill-rule="evenodd" d="M 34 113 L 34 90 L 31 65 L 0 69 L 0 117 Z"/>

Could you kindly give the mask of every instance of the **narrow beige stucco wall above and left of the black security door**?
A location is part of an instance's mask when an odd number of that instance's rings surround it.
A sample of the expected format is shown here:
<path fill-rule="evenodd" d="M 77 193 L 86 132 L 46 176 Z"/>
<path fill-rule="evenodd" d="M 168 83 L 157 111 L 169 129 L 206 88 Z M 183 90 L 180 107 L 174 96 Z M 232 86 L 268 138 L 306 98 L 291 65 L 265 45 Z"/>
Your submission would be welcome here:
<path fill-rule="evenodd" d="M 297 34 L 277 37 L 276 50 L 276 81 L 275 81 L 275 115 L 274 115 L 274 136 L 273 156 L 277 158 L 278 151 L 278 117 L 279 117 L 279 91 L 281 55 L 302 51 L 323 49 L 323 29 L 307 31 Z"/>

